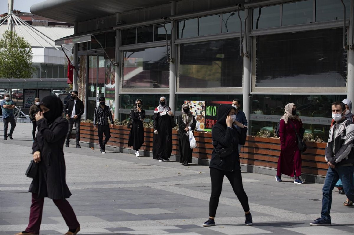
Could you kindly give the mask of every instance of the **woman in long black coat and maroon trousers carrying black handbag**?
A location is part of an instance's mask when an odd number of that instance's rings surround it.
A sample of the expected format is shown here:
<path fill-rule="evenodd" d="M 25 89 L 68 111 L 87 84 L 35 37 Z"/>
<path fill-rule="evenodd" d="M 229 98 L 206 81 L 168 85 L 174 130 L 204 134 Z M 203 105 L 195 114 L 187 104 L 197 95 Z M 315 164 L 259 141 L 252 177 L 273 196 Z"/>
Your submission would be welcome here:
<path fill-rule="evenodd" d="M 45 197 L 53 199 L 61 212 L 69 227 L 65 234 L 76 234 L 80 224 L 66 200 L 71 193 L 65 181 L 63 145 L 68 121 L 62 117 L 63 103 L 57 97 L 46 96 L 40 102 L 40 108 L 41 111 L 35 115 L 38 133 L 32 146 L 33 159 L 39 164 L 39 171 L 29 187 L 32 193 L 29 224 L 18 234 L 39 234 Z"/>

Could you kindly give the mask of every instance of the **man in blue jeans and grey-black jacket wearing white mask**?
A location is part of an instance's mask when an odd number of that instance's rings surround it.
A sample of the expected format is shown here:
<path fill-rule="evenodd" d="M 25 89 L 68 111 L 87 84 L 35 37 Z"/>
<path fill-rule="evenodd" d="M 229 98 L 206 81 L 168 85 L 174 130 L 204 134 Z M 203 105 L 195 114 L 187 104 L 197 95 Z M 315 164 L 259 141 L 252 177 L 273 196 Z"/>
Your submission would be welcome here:
<path fill-rule="evenodd" d="M 310 225 L 331 226 L 332 191 L 339 179 L 342 180 L 347 198 L 354 200 L 353 192 L 353 123 L 344 116 L 346 106 L 342 102 L 332 103 L 333 126 L 330 129 L 325 159 L 329 166 L 322 188 L 321 217 Z"/>

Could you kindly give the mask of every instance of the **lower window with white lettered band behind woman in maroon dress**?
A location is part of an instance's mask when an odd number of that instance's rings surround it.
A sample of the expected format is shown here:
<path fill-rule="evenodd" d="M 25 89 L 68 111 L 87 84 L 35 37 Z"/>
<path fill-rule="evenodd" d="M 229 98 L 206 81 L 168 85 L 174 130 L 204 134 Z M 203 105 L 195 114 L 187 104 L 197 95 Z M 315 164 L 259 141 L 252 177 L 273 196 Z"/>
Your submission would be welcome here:
<path fill-rule="evenodd" d="M 328 140 L 332 121 L 331 104 L 342 101 L 344 95 L 252 95 L 250 112 L 251 135 L 260 130 L 273 133 L 273 129 L 284 115 L 284 107 L 288 103 L 296 105 L 305 133 Z M 264 120 L 264 121 L 263 121 Z M 273 120 L 273 121 L 265 121 Z"/>

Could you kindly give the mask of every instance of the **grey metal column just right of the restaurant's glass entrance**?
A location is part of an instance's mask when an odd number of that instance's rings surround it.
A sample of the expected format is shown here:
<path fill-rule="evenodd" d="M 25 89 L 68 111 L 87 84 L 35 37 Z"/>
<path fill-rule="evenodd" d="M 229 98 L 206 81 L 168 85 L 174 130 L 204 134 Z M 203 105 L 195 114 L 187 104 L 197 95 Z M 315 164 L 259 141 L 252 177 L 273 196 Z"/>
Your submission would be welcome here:
<path fill-rule="evenodd" d="M 116 14 L 116 22 L 120 22 L 120 13 Z M 117 29 L 115 31 L 115 86 L 114 86 L 114 119 L 119 119 L 120 120 L 120 114 L 119 114 L 119 109 L 120 109 L 120 85 L 121 85 L 121 67 L 122 64 L 120 61 L 122 61 L 122 56 L 121 56 L 121 51 L 119 50 L 119 46 L 121 44 L 121 35 L 120 35 L 120 30 Z M 113 65 L 112 65 L 113 66 Z M 120 120 L 121 121 L 121 120 Z"/>

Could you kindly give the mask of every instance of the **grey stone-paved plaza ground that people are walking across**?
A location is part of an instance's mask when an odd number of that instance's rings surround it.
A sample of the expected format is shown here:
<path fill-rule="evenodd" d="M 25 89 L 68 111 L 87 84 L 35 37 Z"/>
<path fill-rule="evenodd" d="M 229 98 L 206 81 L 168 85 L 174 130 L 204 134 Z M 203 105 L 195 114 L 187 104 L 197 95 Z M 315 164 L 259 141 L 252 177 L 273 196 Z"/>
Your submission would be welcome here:
<path fill-rule="evenodd" d="M 0 124 L 2 131 L 3 124 Z M 13 140 L 0 140 L 0 234 L 14 234 L 28 224 L 31 180 L 25 177 L 32 146 L 31 123 L 17 123 Z M 158 162 L 150 157 L 88 147 L 64 147 L 68 199 L 81 224 L 79 234 L 354 234 L 353 206 L 335 188 L 332 227 L 312 227 L 320 217 L 322 185 L 242 173 L 253 218 L 245 226 L 242 207 L 227 179 L 216 226 L 202 223 L 209 213 L 209 168 Z M 46 198 L 41 234 L 63 234 L 67 226 Z"/>

